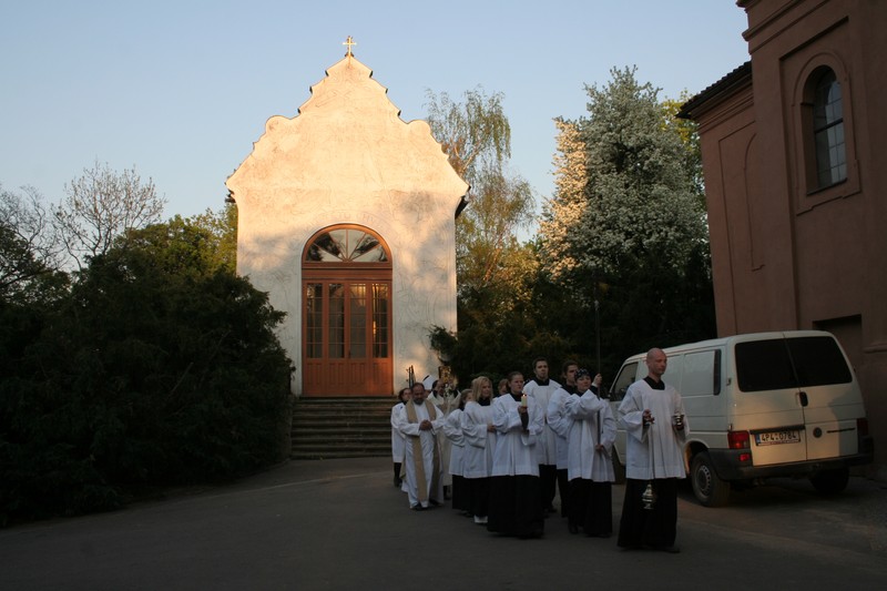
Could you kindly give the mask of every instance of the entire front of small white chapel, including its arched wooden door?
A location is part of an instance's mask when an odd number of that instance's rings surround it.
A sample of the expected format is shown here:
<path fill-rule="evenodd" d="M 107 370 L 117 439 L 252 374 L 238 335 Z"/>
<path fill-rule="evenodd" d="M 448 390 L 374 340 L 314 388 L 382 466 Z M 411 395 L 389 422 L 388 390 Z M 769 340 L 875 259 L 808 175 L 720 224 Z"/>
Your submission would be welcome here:
<path fill-rule="evenodd" d="M 226 185 L 237 273 L 286 313 L 296 396 L 391 396 L 456 329 L 456 215 L 468 185 L 348 51 L 292 119 L 272 116 Z"/>

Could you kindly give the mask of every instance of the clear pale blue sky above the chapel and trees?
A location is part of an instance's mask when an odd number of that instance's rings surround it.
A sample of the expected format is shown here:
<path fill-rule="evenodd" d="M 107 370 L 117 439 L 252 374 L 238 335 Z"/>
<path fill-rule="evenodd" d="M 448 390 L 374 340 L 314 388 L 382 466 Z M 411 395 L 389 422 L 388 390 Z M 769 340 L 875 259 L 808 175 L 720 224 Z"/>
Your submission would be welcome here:
<path fill-rule="evenodd" d="M 514 172 L 553 191 L 552 119 L 636 65 L 660 98 L 748 59 L 735 0 L 0 0 L 0 183 L 48 201 L 98 160 L 135 166 L 165 216 L 218 210 L 274 115 L 295 116 L 345 53 L 405 121 L 426 91 L 502 92 Z"/>

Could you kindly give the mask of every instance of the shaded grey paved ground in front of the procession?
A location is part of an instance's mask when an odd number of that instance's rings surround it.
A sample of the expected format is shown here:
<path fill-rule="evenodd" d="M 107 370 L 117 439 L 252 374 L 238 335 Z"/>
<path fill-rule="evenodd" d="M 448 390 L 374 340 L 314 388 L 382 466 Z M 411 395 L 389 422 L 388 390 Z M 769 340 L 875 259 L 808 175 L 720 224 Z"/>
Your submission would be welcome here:
<path fill-rule="evenodd" d="M 621 510 L 622 487 L 613 491 Z M 387 458 L 293 461 L 237 485 L 113 513 L 0 530 L 0 589 L 874 589 L 887 581 L 887 490 L 839 501 L 807 483 L 679 501 L 680 554 L 570 536 L 488 533 L 407 509 Z"/>

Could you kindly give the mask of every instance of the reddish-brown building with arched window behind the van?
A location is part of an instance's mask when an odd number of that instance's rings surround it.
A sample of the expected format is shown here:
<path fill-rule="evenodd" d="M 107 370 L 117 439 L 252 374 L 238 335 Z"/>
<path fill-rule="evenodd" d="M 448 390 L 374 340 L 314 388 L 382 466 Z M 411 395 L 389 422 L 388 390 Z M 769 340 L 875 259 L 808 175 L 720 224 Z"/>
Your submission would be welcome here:
<path fill-rule="evenodd" d="M 699 123 L 717 333 L 834 333 L 884 467 L 887 4 L 736 3 L 751 60 L 679 114 Z"/>

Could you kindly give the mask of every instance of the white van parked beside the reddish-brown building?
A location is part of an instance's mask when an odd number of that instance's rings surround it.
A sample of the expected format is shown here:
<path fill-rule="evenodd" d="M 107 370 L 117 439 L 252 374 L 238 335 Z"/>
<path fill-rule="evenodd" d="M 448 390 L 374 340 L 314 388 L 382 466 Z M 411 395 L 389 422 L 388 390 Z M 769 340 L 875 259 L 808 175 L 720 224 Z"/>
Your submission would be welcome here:
<path fill-rule="evenodd" d="M 684 448 L 693 492 L 725 505 L 731 486 L 768 477 L 807 477 L 820 492 L 844 490 L 850 466 L 870 463 L 863 395 L 835 337 L 818 330 L 757 333 L 664 349 L 663 376 L 684 400 Z M 638 354 L 609 389 L 613 414 L 629 386 L 648 375 Z M 625 431 L 613 454 L 624 475 Z"/>

